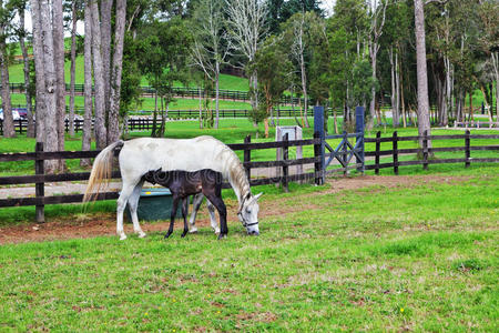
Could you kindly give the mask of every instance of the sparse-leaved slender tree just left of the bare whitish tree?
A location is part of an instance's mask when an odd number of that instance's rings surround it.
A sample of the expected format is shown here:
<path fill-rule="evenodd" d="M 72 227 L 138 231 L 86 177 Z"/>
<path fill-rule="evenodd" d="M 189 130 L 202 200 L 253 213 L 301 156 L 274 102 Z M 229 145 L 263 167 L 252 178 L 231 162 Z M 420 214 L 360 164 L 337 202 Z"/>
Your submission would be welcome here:
<path fill-rule="evenodd" d="M 193 62 L 215 83 L 215 129 L 218 128 L 220 70 L 232 51 L 225 30 L 224 4 L 225 0 L 200 0 L 191 18 Z"/>

